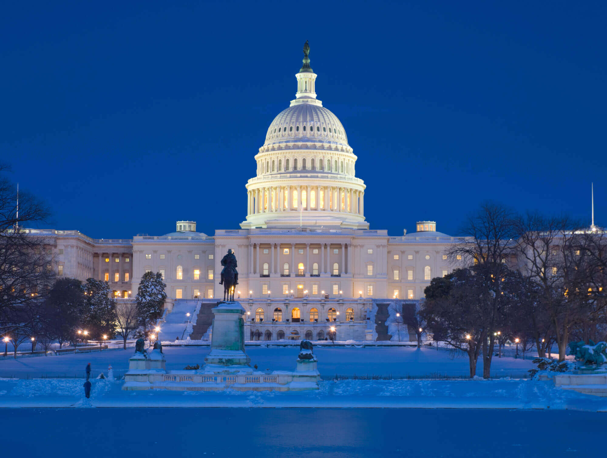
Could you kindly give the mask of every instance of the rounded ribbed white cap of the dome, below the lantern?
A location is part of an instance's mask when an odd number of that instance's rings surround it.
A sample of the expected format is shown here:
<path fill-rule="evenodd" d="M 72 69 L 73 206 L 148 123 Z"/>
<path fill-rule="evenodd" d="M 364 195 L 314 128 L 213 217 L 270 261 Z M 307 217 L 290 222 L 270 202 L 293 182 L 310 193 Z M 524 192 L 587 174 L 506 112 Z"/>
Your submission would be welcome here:
<path fill-rule="evenodd" d="M 325 107 L 301 103 L 282 110 L 274 118 L 263 146 L 318 141 L 348 146 L 344 126 L 337 116 Z"/>

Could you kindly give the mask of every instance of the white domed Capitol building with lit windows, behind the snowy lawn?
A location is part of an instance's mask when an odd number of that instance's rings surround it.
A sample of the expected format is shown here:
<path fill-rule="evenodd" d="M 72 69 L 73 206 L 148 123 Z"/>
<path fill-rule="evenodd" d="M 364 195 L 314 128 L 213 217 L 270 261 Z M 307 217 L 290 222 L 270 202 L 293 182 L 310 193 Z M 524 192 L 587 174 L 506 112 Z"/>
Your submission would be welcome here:
<path fill-rule="evenodd" d="M 446 251 L 455 238 L 437 232 L 435 221 L 418 221 L 416 232 L 398 237 L 370 229 L 357 157 L 342 123 L 317 99 L 307 52 L 295 76 L 295 98 L 251 163 L 240 229 L 207 235 L 195 221 L 177 221 L 174 232 L 126 240 L 30 229 L 51 240 L 57 274 L 106 280 L 128 301 L 144 272 L 161 272 L 168 310 L 200 311 L 223 298 L 220 260 L 232 249 L 235 297 L 248 312 L 245 335 L 255 340 L 316 340 L 329 326 L 338 340 L 368 339 L 376 337 L 367 319 L 376 305 L 423 298 L 431 278 L 453 270 Z"/>

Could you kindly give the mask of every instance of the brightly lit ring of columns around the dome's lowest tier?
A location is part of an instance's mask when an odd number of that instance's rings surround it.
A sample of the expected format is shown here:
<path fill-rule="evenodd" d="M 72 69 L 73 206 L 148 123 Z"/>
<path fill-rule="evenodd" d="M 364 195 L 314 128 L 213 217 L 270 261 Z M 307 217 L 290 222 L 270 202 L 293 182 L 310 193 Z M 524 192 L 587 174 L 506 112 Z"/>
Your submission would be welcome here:
<path fill-rule="evenodd" d="M 320 210 L 364 215 L 364 191 L 341 186 L 266 186 L 247 192 L 247 215 Z M 304 202 L 305 200 L 305 202 Z"/>

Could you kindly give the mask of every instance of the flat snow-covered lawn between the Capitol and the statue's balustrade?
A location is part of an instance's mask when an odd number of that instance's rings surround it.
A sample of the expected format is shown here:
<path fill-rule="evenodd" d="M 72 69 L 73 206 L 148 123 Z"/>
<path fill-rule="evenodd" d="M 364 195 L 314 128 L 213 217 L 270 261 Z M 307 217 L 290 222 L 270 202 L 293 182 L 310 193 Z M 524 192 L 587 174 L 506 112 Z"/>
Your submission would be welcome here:
<path fill-rule="evenodd" d="M 203 365 L 208 347 L 165 347 L 167 369 L 183 369 L 186 365 Z M 292 371 L 299 348 L 297 347 L 248 347 L 251 366 L 260 370 L 272 369 Z M 100 371 L 107 371 L 112 365 L 116 377 L 121 377 L 128 369 L 128 359 L 133 349 L 101 351 L 61 356 L 40 356 L 33 358 L 0 360 L 0 377 L 83 377 L 84 368 L 91 363 L 93 377 Z M 380 375 L 381 377 L 467 377 L 469 375 L 467 357 L 441 349 L 379 347 L 379 348 L 314 348 L 318 357 L 318 369 L 324 378 L 337 375 Z M 529 360 L 514 358 L 493 358 L 492 377 L 526 376 L 527 370 L 534 368 Z M 479 361 L 478 374 L 482 375 L 483 365 Z"/>

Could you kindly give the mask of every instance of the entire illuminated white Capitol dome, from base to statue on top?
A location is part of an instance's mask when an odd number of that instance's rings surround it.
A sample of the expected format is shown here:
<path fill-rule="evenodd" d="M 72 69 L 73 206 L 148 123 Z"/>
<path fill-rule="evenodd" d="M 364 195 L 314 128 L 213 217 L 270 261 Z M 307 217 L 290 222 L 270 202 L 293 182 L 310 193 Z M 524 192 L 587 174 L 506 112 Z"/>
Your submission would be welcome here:
<path fill-rule="evenodd" d="M 342 123 L 316 98 L 309 53 L 306 42 L 295 99 L 274 118 L 255 156 L 257 174 L 246 184 L 243 228 L 368 229 L 357 157 Z"/>

